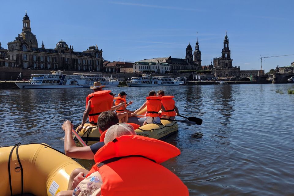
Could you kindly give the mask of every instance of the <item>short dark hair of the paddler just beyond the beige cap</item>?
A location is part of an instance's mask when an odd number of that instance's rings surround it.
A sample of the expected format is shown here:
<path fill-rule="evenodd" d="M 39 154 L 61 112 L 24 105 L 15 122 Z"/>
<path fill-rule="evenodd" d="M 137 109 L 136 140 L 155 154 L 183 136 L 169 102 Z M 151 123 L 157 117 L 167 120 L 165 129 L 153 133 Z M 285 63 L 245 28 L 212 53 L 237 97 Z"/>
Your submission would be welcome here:
<path fill-rule="evenodd" d="M 119 118 L 113 111 L 104 111 L 99 115 L 97 125 L 101 131 L 106 131 L 117 123 L 119 123 Z"/>

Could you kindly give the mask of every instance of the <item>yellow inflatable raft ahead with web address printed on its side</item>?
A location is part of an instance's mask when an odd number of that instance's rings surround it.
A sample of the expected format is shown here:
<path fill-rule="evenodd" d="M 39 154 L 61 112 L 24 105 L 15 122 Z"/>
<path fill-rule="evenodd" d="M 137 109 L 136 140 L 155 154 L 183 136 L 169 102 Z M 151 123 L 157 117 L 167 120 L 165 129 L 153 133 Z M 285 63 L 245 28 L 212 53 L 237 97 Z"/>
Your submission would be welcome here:
<path fill-rule="evenodd" d="M 146 112 L 146 109 L 140 112 L 140 115 L 144 115 Z M 136 118 L 131 117 L 129 118 L 129 123 L 136 123 L 140 125 L 138 129 L 135 130 L 135 132 L 138 135 L 142 135 L 149 138 L 155 138 L 155 139 L 164 139 L 168 137 L 171 133 L 174 133 L 179 130 L 178 123 L 176 121 L 172 120 L 161 120 L 162 125 L 159 124 L 147 124 L 143 125 L 145 121 L 145 118 Z M 85 123 L 83 129 L 78 133 L 79 136 L 85 141 L 87 145 L 95 144 L 96 142 L 100 141 L 100 132 L 98 130 L 97 125 Z M 80 143 L 75 138 L 75 141 L 77 145 L 80 146 Z"/>

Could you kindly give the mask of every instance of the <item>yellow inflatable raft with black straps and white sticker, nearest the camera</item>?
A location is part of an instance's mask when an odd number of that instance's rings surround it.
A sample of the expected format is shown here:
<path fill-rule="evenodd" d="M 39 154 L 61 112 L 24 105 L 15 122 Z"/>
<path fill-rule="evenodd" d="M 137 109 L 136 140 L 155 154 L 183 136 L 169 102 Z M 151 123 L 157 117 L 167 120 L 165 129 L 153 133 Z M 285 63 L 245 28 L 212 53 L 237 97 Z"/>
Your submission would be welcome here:
<path fill-rule="evenodd" d="M 0 148 L 0 168 L 1 195 L 21 194 L 23 189 L 23 193 L 54 196 L 67 190 L 70 173 L 83 167 L 46 144 L 19 144 Z"/>

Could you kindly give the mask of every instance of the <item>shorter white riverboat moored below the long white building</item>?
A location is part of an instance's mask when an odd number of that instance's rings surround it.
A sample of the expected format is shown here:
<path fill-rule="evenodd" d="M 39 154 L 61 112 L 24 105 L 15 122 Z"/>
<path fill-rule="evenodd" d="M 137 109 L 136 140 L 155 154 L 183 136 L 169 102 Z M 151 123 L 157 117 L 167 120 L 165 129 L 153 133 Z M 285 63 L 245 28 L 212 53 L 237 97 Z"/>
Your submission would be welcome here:
<path fill-rule="evenodd" d="M 150 76 L 143 74 L 142 77 L 132 77 L 128 86 L 177 86 L 184 83 L 169 76 Z"/>

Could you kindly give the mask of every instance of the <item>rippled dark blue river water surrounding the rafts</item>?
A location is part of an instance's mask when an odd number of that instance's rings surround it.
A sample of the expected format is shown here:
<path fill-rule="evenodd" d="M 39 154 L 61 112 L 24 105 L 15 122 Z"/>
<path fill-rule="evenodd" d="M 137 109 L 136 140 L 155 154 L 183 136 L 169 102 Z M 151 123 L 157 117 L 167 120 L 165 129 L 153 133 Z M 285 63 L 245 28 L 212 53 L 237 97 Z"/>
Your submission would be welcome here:
<path fill-rule="evenodd" d="M 150 90 L 174 95 L 182 115 L 165 141 L 181 155 L 163 165 L 190 195 L 294 195 L 293 84 L 121 87 L 137 109 Z M 284 92 L 284 94 L 276 91 Z M 38 142 L 64 152 L 61 125 L 80 123 L 91 89 L 0 90 L 0 146 Z M 178 117 L 177 119 L 181 119 Z M 168 180 L 168 179 L 167 179 Z"/>

